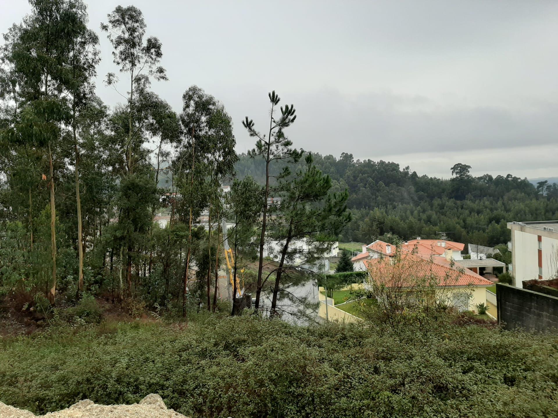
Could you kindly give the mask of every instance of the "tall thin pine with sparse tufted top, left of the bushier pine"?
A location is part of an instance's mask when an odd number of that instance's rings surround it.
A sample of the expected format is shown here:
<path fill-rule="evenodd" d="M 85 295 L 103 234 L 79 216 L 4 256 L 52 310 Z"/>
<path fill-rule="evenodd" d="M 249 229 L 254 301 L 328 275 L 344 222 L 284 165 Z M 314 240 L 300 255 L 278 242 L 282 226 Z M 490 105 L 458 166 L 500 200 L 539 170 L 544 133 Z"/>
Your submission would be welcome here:
<path fill-rule="evenodd" d="M 261 156 L 266 162 L 266 186 L 264 188 L 263 200 L 262 200 L 262 229 L 259 238 L 259 265 L 258 265 L 258 282 L 256 289 L 256 303 L 254 308 L 258 310 L 259 308 L 259 298 L 262 292 L 262 271 L 263 271 L 263 248 L 266 239 L 266 223 L 267 223 L 267 210 L 268 210 L 268 198 L 270 197 L 270 178 L 272 177 L 270 172 L 270 164 L 274 161 L 276 162 L 297 162 L 302 156 L 302 151 L 298 151 L 292 148 L 292 141 L 288 139 L 285 135 L 285 128 L 291 126 L 296 120 L 296 111 L 294 105 L 286 105 L 285 108 L 281 106 L 281 115 L 276 115 L 277 106 L 279 105 L 281 98 L 273 90 L 268 94 L 271 103 L 270 109 L 270 128 L 267 135 L 262 134 L 256 128 L 254 128 L 254 121 L 252 119 L 246 119 L 242 121 L 242 125 L 247 129 L 248 134 L 251 137 L 258 138 L 256 141 L 256 147 L 248 152 L 248 155 L 252 158 Z"/>

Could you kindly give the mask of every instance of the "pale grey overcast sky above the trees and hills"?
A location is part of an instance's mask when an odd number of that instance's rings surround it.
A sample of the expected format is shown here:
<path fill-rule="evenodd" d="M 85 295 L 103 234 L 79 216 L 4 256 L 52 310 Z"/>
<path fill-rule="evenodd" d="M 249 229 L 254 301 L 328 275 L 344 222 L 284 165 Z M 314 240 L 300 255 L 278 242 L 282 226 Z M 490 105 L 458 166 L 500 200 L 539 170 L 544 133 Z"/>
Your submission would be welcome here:
<path fill-rule="evenodd" d="M 234 120 L 237 149 L 253 147 L 244 116 L 264 128 L 267 93 L 293 103 L 297 148 L 384 159 L 419 174 L 558 176 L 558 2 L 91 0 L 101 38 L 97 93 L 117 71 L 99 23 L 117 4 L 139 7 L 163 44 L 169 81 L 153 90 L 180 111 L 196 84 Z M 0 0 L 0 30 L 25 0 Z M 126 88 L 122 86 L 122 89 Z"/>

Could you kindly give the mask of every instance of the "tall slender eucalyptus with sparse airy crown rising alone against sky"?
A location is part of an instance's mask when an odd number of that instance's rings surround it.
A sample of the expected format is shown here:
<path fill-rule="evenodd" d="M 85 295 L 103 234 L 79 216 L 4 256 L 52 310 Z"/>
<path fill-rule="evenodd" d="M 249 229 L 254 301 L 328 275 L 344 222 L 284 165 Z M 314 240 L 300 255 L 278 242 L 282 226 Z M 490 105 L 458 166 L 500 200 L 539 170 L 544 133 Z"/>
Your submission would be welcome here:
<path fill-rule="evenodd" d="M 166 71 L 158 66 L 162 57 L 162 44 L 154 36 L 145 39 L 146 23 L 143 13 L 135 6 L 117 6 L 107 15 L 108 23 L 101 23 L 101 30 L 107 32 L 107 37 L 114 48 L 112 52 L 114 64 L 120 67 L 120 72 L 129 76 L 129 91 L 124 96 L 128 111 L 128 139 L 126 144 L 126 166 L 132 174 L 133 149 L 138 139 L 137 129 L 134 129 L 134 112 L 136 111 L 135 90 L 145 90 L 151 80 L 167 80 Z M 106 83 L 116 89 L 118 77 L 114 72 L 107 74 Z M 141 145 L 141 143 L 140 143 Z"/>

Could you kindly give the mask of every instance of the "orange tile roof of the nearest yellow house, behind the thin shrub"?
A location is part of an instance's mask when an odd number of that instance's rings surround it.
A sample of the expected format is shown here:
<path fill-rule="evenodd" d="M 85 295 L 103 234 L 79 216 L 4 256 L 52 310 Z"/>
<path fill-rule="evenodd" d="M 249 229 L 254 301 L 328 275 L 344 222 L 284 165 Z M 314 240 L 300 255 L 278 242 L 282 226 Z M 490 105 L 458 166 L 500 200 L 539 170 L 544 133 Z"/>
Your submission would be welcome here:
<path fill-rule="evenodd" d="M 381 257 L 364 261 L 374 280 L 387 286 L 412 287 L 416 281 L 435 280 L 436 286 L 490 286 L 492 281 L 442 257 L 427 257 L 405 252 L 401 257 Z"/>

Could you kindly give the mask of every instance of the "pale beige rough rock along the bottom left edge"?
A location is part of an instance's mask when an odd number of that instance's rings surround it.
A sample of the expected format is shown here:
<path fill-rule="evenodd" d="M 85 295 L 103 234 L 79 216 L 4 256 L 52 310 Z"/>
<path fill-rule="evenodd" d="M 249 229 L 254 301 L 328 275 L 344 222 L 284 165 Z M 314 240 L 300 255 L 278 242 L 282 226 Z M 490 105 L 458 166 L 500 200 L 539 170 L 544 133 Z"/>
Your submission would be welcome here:
<path fill-rule="evenodd" d="M 0 402 L 0 418 L 33 418 L 37 415 L 25 409 L 17 409 Z M 167 409 L 161 396 L 151 393 L 139 404 L 133 405 L 97 405 L 86 399 L 57 412 L 39 415 L 48 418 L 187 418 Z"/>

